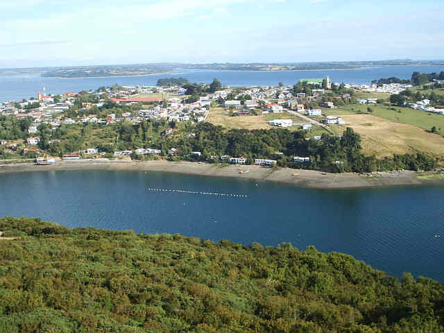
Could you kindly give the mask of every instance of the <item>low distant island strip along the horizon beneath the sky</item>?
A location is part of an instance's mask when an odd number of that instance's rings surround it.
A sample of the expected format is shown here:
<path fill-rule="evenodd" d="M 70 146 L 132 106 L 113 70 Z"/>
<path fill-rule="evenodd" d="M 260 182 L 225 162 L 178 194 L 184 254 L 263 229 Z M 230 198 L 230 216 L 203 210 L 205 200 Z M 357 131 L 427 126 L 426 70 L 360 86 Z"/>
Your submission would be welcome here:
<path fill-rule="evenodd" d="M 58 78 L 96 78 L 117 76 L 144 76 L 164 74 L 178 70 L 225 70 L 225 71 L 309 71 L 309 70 L 340 70 L 359 69 L 362 67 L 388 65 L 444 65 L 439 60 L 381 60 L 381 61 L 350 61 L 350 62 L 288 62 L 288 63 L 212 63 L 212 64 L 181 64 L 155 63 L 136 65 L 107 65 L 83 67 L 56 67 L 40 69 L 44 77 Z M 23 71 L 21 69 L 20 71 Z M 35 69 L 33 69 L 35 71 Z"/>

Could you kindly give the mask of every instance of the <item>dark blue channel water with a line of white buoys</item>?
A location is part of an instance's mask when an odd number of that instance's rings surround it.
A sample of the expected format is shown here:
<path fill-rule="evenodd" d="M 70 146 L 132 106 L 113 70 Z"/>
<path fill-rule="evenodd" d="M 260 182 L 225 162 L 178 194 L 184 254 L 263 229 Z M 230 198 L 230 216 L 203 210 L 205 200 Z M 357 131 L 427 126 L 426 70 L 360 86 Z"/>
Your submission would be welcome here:
<path fill-rule="evenodd" d="M 159 193 L 205 190 L 248 198 Z M 400 276 L 444 282 L 443 187 L 318 190 L 160 172 L 48 171 L 0 175 L 0 216 L 71 228 L 180 233 L 264 246 L 339 251 Z M 441 238 L 434 235 L 441 235 Z"/>

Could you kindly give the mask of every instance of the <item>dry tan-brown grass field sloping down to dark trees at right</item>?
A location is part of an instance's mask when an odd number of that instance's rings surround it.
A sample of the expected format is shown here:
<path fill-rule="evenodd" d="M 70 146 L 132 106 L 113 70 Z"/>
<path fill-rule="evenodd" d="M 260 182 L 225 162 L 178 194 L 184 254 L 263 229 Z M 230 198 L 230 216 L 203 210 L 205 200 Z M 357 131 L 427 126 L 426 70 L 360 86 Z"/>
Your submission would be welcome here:
<path fill-rule="evenodd" d="M 374 112 L 375 113 L 375 112 Z M 387 121 L 370 114 L 341 116 L 359 133 L 366 155 L 386 157 L 395 154 L 424 152 L 436 157 L 444 155 L 444 138 L 427 133 L 422 128 L 405 123 Z M 331 126 L 337 128 L 339 126 Z"/>

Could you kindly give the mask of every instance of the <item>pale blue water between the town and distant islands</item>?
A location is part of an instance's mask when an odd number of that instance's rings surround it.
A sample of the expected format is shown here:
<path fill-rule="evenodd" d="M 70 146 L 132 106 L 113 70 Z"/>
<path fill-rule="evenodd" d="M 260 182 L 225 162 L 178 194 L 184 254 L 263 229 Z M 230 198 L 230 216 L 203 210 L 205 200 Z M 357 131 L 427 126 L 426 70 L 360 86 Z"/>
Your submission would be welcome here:
<path fill-rule="evenodd" d="M 0 76 L 0 101 L 19 101 L 37 96 L 37 92 L 46 86 L 49 94 L 80 92 L 80 90 L 97 89 L 102 86 L 119 85 L 155 85 L 159 78 L 184 77 L 191 82 L 210 83 L 218 78 L 224 85 L 293 85 L 301 78 L 324 78 L 327 75 L 334 82 L 370 83 L 371 80 L 396 76 L 411 78 L 413 71 L 432 73 L 444 71 L 444 66 L 383 66 L 365 69 L 331 70 L 331 71 L 206 71 L 187 70 L 172 74 L 133 76 L 122 78 L 42 78 L 40 74 Z"/>

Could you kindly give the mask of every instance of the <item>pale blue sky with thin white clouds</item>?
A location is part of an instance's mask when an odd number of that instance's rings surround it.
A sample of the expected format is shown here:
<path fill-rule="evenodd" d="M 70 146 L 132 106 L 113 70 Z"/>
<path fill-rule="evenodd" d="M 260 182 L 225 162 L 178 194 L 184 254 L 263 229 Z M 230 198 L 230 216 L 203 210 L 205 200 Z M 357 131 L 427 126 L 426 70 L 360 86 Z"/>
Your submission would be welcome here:
<path fill-rule="evenodd" d="M 444 59 L 442 0 L 0 1 L 0 68 Z"/>

